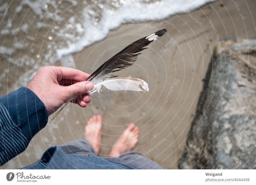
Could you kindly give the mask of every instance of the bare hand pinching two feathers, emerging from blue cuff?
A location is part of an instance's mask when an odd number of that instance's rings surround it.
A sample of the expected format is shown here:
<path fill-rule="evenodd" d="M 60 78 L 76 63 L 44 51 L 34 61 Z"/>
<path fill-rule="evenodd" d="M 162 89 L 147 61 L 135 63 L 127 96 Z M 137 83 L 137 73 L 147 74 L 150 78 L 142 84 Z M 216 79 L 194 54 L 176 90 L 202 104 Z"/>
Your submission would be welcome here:
<path fill-rule="evenodd" d="M 78 69 L 45 66 L 38 70 L 27 88 L 40 98 L 50 116 L 72 97 L 73 103 L 87 106 L 91 98 L 85 93 L 93 89 L 93 84 L 85 81 L 89 76 Z"/>

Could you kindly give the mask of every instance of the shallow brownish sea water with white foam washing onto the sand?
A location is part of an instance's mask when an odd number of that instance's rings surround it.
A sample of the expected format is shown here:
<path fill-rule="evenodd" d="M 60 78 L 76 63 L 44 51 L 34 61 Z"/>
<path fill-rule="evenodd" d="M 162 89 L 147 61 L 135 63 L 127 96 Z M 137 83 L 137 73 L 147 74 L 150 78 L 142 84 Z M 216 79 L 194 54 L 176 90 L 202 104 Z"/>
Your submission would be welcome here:
<path fill-rule="evenodd" d="M 45 65 L 74 67 L 72 54 L 119 25 L 161 20 L 207 0 L 24 0 L 0 3 L 1 93 L 27 85 Z M 15 82 L 15 83 L 13 83 Z M 7 89 L 9 87 L 9 89 Z"/>

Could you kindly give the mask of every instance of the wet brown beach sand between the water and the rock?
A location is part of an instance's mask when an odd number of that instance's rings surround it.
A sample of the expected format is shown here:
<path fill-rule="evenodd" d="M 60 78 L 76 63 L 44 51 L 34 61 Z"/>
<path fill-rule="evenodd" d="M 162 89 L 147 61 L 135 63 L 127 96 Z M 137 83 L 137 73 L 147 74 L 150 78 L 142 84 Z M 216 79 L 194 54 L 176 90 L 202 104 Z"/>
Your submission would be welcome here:
<path fill-rule="evenodd" d="M 30 142 L 27 150 L 2 168 L 19 168 L 36 161 L 51 145 L 83 137 L 90 116 L 103 115 L 101 156 L 107 157 L 111 146 L 126 126 L 133 122 L 140 128 L 135 151 L 167 169 L 176 169 L 183 153 L 190 123 L 203 80 L 218 38 L 251 39 L 256 37 L 255 1 L 219 1 L 187 13 L 159 21 L 138 22 L 113 28 L 107 38 L 75 53 L 75 68 L 91 73 L 127 44 L 166 28 L 168 32 L 149 45 L 132 67 L 118 72 L 148 82 L 149 91 L 108 91 L 92 96 L 86 108 L 70 103 L 54 121 Z M 238 10 L 239 8 L 239 10 Z M 98 58 L 98 59 L 97 59 Z M 51 117 L 50 117 L 51 118 Z M 44 140 L 42 139 L 44 138 Z M 33 153 L 28 158 L 27 153 Z"/>

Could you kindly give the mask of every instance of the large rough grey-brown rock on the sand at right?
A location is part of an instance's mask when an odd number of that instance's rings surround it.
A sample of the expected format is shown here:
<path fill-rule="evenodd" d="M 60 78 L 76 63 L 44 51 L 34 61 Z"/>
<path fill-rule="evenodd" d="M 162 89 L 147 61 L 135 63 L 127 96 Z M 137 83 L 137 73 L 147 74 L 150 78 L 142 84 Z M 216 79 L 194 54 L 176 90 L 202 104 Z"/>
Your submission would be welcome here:
<path fill-rule="evenodd" d="M 256 39 L 214 49 L 180 169 L 256 169 Z"/>

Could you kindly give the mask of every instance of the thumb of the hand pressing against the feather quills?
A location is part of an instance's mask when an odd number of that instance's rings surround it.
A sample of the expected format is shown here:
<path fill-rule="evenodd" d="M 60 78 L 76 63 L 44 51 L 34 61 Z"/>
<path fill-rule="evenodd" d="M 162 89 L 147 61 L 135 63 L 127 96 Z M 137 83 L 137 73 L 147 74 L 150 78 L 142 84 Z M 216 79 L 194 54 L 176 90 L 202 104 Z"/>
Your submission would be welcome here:
<path fill-rule="evenodd" d="M 78 82 L 73 85 L 65 87 L 68 99 L 76 96 L 80 96 L 85 94 L 87 91 L 93 89 L 93 84 L 92 82 L 89 81 L 84 81 L 84 82 Z"/>

